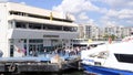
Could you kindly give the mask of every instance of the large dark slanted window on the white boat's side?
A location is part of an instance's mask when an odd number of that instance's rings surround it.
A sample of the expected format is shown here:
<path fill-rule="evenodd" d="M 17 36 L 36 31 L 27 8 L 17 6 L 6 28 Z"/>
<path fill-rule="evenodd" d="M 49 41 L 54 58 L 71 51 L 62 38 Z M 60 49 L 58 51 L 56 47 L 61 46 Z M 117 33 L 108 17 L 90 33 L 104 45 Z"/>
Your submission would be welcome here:
<path fill-rule="evenodd" d="M 133 55 L 132 54 L 114 54 L 119 62 L 123 63 L 133 63 Z"/>

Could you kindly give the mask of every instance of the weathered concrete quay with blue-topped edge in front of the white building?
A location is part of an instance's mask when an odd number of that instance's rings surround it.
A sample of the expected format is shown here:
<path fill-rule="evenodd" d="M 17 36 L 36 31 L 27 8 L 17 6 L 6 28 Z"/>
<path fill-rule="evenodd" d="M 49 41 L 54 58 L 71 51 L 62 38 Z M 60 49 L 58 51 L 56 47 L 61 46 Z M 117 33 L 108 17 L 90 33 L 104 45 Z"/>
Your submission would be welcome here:
<path fill-rule="evenodd" d="M 45 57 L 1 57 L 0 74 L 61 72 L 69 68 L 78 68 L 79 61 L 80 57 L 78 55 L 66 57 L 60 63 L 51 63 Z"/>

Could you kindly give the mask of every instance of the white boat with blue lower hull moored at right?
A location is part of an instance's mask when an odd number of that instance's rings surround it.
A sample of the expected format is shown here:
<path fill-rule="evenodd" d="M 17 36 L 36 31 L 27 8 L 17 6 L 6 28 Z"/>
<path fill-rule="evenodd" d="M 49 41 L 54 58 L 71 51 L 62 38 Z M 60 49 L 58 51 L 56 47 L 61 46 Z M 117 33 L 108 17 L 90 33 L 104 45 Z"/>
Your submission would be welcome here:
<path fill-rule="evenodd" d="M 81 52 L 82 67 L 100 75 L 133 75 L 133 36 Z"/>

